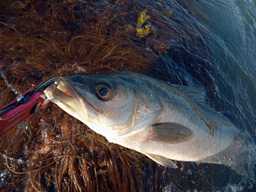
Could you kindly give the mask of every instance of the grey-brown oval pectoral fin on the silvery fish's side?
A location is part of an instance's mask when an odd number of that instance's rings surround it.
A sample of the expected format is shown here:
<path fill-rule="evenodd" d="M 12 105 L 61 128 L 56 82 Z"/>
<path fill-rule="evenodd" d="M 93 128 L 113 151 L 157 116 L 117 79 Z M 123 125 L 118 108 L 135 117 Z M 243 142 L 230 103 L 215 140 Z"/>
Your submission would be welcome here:
<path fill-rule="evenodd" d="M 150 140 L 178 144 L 193 137 L 193 132 L 178 123 L 161 123 L 152 126 L 154 135 Z"/>

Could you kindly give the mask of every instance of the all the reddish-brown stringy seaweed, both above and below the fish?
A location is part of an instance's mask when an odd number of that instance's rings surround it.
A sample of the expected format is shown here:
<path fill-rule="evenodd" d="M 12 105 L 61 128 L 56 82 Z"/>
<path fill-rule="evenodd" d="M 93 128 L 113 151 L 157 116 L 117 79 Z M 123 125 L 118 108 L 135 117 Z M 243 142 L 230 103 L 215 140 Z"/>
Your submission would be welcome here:
<path fill-rule="evenodd" d="M 52 76 L 146 73 L 177 50 L 172 45 L 196 46 L 204 33 L 196 20 L 187 22 L 183 1 L 0 4 L 0 106 Z M 1 191 L 145 191 L 156 190 L 161 177 L 156 163 L 109 143 L 53 103 L 3 136 L 0 154 Z"/>

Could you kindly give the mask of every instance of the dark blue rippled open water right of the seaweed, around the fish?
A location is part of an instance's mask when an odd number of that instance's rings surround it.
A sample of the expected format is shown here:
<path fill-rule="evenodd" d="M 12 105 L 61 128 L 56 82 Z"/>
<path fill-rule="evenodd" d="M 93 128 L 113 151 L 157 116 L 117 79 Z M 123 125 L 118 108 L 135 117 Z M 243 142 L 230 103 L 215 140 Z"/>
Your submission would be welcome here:
<path fill-rule="evenodd" d="M 205 88 L 208 104 L 255 142 L 256 3 L 233 0 L 190 3 L 208 35 L 202 36 L 200 47 L 193 47 L 189 40 L 171 45 L 171 51 L 156 63 L 157 70 L 149 74 L 172 83 Z M 166 182 L 165 191 L 256 190 L 254 176 L 250 180 L 219 165 L 185 164 L 189 168 L 184 166 L 177 176 L 169 176 L 171 170 L 167 169 L 163 173 L 170 182 Z M 176 183 L 176 177 L 182 178 L 182 182 Z M 207 185 L 210 187 L 204 188 Z"/>

